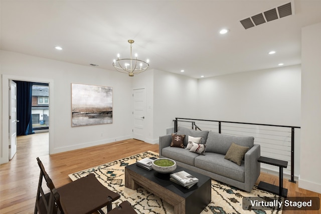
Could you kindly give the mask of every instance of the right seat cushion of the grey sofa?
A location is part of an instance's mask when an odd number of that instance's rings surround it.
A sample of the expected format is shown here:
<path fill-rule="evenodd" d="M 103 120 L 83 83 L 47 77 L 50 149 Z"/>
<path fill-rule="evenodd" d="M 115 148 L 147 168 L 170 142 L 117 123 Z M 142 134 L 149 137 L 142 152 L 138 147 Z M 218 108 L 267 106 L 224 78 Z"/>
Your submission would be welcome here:
<path fill-rule="evenodd" d="M 242 161 L 241 165 L 238 166 L 237 164 L 224 159 L 224 156 L 225 155 L 223 154 L 207 152 L 205 156 L 199 155 L 195 158 L 195 166 L 234 180 L 238 180 L 240 182 L 244 182 L 244 161 Z"/>

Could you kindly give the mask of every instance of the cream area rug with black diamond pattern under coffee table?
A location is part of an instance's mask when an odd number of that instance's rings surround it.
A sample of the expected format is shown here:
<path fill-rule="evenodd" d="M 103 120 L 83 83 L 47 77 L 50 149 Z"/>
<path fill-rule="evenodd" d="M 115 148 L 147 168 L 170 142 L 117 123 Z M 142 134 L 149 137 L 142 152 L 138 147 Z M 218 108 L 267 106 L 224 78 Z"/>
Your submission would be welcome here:
<path fill-rule="evenodd" d="M 125 166 L 135 163 L 145 157 L 158 157 L 157 153 L 146 151 L 130 157 L 115 160 L 100 166 L 85 169 L 69 174 L 72 180 L 94 173 L 96 178 L 110 190 L 118 192 L 120 198 L 113 202 L 113 207 L 124 200 L 128 200 L 137 213 L 174 213 L 174 207 L 153 195 L 143 188 L 132 190 L 125 187 Z M 205 213 L 281 213 L 282 210 L 244 210 L 242 208 L 243 197 L 277 198 L 277 196 L 257 189 L 256 186 L 251 192 L 226 185 L 212 179 L 212 200 L 201 212 Z M 106 211 L 106 210 L 105 210 Z"/>

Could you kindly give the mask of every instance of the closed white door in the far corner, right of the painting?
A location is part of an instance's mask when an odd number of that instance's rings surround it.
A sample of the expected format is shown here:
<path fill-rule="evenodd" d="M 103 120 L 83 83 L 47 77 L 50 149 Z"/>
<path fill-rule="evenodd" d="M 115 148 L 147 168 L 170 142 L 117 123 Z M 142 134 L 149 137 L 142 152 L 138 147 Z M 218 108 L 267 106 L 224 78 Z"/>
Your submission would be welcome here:
<path fill-rule="evenodd" d="M 133 108 L 133 138 L 145 141 L 146 93 L 144 88 L 133 90 Z"/>

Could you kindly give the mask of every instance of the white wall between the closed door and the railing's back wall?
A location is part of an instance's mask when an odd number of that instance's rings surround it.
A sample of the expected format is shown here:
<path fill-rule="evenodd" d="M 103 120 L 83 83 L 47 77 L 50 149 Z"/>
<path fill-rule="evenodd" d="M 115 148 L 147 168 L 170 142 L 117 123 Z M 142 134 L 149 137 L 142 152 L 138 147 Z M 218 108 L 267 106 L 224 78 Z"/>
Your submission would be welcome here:
<path fill-rule="evenodd" d="M 145 141 L 158 143 L 175 117 L 197 113 L 197 79 L 151 69 L 133 78 L 133 89 L 146 89 Z"/>

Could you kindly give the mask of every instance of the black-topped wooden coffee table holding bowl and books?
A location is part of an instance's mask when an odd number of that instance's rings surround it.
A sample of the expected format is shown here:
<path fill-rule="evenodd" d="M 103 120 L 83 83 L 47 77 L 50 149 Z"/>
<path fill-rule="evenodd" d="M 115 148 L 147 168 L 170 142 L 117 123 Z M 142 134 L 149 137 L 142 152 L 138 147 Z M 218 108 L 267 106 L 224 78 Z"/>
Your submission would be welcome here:
<path fill-rule="evenodd" d="M 201 213 L 211 202 L 211 178 L 180 166 L 174 172 L 182 170 L 197 177 L 199 182 L 187 189 L 170 181 L 170 174 L 147 171 L 134 163 L 125 167 L 125 186 L 130 189 L 143 187 L 173 205 L 177 214 Z"/>

